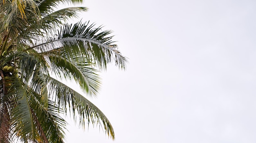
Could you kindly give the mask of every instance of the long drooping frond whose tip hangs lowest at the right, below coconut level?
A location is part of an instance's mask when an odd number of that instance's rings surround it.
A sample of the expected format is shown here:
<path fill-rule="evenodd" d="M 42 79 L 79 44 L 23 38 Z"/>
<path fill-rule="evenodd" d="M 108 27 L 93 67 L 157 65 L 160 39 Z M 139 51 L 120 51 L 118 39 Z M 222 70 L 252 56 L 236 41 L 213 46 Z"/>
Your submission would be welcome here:
<path fill-rule="evenodd" d="M 45 76 L 45 78 L 49 83 L 49 87 L 51 87 L 49 92 L 58 100 L 58 106 L 63 108 L 63 110 L 66 110 L 67 107 L 71 108 L 74 116 L 77 112 L 79 114 L 80 124 L 83 128 L 85 128 L 86 121 L 88 124 L 99 124 L 99 126 L 104 128 L 108 136 L 115 139 L 115 133 L 110 121 L 97 106 L 62 82 L 50 76 Z"/>

